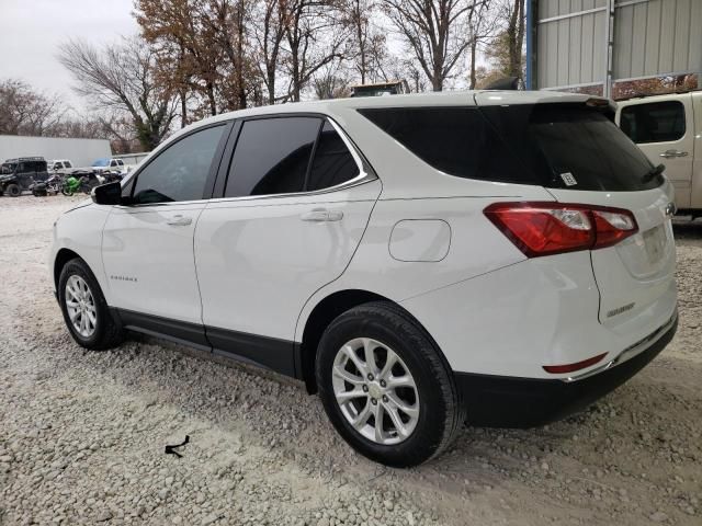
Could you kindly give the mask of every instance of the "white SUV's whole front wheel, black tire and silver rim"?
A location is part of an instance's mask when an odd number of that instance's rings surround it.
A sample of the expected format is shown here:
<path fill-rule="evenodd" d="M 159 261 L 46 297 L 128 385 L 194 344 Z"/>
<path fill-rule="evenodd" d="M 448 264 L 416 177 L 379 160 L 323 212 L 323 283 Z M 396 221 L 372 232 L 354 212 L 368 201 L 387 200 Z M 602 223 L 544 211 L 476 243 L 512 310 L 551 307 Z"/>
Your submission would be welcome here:
<path fill-rule="evenodd" d="M 61 270 L 58 300 L 66 327 L 79 345 L 102 351 L 124 339 L 122 324 L 110 312 L 95 276 L 83 260 L 70 260 Z"/>

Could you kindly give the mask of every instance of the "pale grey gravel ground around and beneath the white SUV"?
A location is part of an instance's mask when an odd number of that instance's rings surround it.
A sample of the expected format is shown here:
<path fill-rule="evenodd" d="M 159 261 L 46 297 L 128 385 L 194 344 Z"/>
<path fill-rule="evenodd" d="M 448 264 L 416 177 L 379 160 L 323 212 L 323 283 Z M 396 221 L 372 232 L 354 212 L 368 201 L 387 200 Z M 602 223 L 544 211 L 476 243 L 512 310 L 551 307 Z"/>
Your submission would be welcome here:
<path fill-rule="evenodd" d="M 702 524 L 702 228 L 676 227 L 680 329 L 638 376 L 564 422 L 466 428 L 394 470 L 294 381 L 156 340 L 78 347 L 46 268 L 75 201 L 0 198 L 0 524 Z"/>

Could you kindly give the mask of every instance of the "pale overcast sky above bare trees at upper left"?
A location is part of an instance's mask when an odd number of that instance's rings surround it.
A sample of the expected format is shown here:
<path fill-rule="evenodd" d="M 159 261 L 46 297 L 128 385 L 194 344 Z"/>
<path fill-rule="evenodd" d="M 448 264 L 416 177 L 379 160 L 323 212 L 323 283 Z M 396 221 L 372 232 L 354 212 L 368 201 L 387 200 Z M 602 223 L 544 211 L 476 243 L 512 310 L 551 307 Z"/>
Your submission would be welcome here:
<path fill-rule="evenodd" d="M 86 113 L 56 58 L 58 46 L 71 37 L 100 45 L 137 34 L 133 7 L 133 0 L 0 0 L 0 79 L 23 80 Z"/>

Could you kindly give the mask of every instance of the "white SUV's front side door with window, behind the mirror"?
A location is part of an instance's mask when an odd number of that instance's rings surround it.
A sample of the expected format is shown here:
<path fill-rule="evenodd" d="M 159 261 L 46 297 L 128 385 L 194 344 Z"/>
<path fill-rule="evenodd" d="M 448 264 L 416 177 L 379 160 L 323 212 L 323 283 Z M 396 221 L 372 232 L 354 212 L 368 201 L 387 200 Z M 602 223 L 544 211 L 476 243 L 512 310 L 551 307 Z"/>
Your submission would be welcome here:
<path fill-rule="evenodd" d="M 183 340 L 203 344 L 204 334 L 188 334 L 202 328 L 193 232 L 227 129 L 225 124 L 200 129 L 152 158 L 125 186 L 131 204 L 112 209 L 103 232 L 111 306 L 127 317 L 182 322 Z"/>

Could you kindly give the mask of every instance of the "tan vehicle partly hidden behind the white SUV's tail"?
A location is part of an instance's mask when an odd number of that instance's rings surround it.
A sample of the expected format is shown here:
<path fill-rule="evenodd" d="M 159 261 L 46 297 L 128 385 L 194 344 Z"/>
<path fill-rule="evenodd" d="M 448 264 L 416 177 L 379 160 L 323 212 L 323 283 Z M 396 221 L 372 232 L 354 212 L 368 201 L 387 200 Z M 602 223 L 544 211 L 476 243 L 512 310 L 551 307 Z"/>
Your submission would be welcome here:
<path fill-rule="evenodd" d="M 702 91 L 619 102 L 616 124 L 650 162 L 665 164 L 680 213 L 702 217 Z"/>

